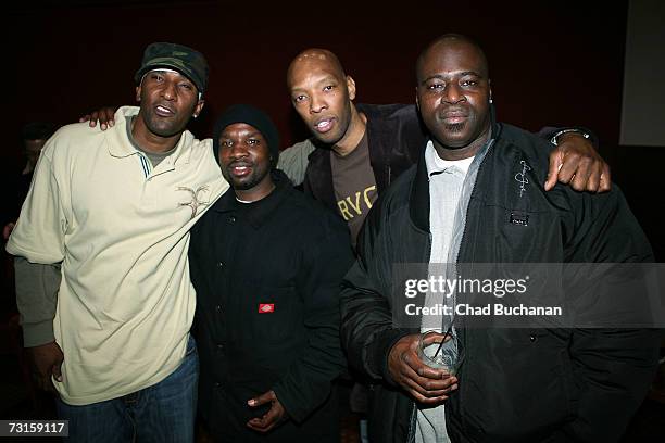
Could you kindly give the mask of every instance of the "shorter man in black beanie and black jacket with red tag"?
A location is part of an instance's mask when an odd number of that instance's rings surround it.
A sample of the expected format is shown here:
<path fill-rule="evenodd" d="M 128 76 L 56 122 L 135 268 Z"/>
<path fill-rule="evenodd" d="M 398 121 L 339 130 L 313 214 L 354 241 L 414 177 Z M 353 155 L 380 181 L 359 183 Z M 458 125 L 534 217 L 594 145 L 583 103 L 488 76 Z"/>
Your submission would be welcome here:
<path fill-rule="evenodd" d="M 223 442 L 338 442 L 346 226 L 274 169 L 277 130 L 262 111 L 229 107 L 213 143 L 235 192 L 191 231 L 202 416 Z"/>

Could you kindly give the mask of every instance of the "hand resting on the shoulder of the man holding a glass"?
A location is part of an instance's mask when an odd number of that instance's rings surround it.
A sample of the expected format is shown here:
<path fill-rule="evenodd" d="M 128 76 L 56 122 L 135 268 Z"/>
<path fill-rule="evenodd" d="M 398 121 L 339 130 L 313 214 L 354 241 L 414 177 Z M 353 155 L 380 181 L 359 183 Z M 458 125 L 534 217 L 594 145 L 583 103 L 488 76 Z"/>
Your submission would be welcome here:
<path fill-rule="evenodd" d="M 610 165 L 598 154 L 593 144 L 579 134 L 564 134 L 550 153 L 550 168 L 544 190 L 556 181 L 576 191 L 606 192 L 611 188 Z"/>

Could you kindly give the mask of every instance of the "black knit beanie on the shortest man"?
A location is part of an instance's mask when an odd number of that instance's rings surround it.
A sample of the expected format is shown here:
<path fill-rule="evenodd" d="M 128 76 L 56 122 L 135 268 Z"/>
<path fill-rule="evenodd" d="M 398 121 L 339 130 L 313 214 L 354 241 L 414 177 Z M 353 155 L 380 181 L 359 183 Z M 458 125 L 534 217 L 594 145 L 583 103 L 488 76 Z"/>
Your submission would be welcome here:
<path fill-rule="evenodd" d="M 268 143 L 272 159 L 271 166 L 273 168 L 277 166 L 277 160 L 279 159 L 279 134 L 277 132 L 277 127 L 265 112 L 251 104 L 233 104 L 217 118 L 213 132 L 213 154 L 217 163 L 219 163 L 219 136 L 228 125 L 234 123 L 246 123 L 259 129 Z"/>

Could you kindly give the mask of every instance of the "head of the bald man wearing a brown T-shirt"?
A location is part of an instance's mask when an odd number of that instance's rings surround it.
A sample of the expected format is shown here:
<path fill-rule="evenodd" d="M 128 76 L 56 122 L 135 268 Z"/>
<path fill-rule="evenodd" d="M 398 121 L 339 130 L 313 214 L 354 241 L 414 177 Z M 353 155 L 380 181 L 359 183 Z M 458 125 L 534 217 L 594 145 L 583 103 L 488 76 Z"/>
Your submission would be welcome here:
<path fill-rule="evenodd" d="M 293 107 L 314 137 L 327 144 L 343 145 L 364 134 L 357 127 L 355 83 L 329 51 L 312 49 L 299 54 L 287 74 Z M 354 148 L 354 147 L 351 147 Z"/>

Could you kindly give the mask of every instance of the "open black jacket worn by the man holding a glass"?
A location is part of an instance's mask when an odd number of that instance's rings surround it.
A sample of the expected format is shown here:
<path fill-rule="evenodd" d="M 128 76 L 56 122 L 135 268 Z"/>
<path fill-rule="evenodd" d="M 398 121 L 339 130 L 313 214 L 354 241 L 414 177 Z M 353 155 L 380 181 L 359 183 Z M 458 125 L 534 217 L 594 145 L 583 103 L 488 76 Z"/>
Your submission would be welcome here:
<path fill-rule="evenodd" d="M 543 190 L 548 143 L 495 125 L 470 193 L 459 263 L 650 262 L 648 240 L 616 186 L 603 194 Z M 424 152 L 424 150 L 422 150 Z M 515 175 L 530 165 L 520 197 Z M 519 211 L 528 224 L 511 223 Z M 390 379 L 387 356 L 414 329 L 392 325 L 393 265 L 427 263 L 429 187 L 424 156 L 380 195 L 344 279 L 342 345 L 373 378 L 373 442 L 412 442 L 415 404 Z M 657 331 L 467 329 L 460 388 L 446 405 L 453 442 L 620 438 L 653 379 Z"/>

